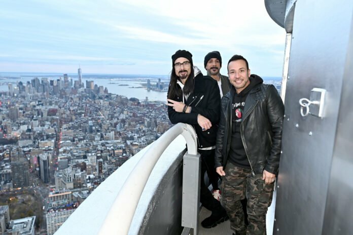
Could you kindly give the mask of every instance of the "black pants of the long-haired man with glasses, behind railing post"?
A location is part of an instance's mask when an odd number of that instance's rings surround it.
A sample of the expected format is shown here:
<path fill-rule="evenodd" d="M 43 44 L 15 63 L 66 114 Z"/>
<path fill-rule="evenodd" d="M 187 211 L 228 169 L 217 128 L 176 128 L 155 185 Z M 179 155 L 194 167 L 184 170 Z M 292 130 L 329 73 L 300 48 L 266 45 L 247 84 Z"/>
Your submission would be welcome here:
<path fill-rule="evenodd" d="M 215 170 L 215 150 L 198 150 L 201 155 L 201 186 L 200 186 L 200 202 L 207 210 L 215 214 L 224 212 L 221 203 L 212 195 L 204 182 L 205 172 L 209 169 Z"/>

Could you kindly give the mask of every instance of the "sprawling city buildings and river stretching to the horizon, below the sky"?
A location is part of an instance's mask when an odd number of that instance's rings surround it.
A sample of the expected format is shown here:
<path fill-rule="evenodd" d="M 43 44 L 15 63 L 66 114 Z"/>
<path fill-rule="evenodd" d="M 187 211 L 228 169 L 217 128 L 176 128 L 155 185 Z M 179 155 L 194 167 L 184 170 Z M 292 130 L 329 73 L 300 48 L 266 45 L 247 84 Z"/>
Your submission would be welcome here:
<path fill-rule="evenodd" d="M 25 219 L 53 234 L 104 179 L 171 126 L 162 101 L 168 80 L 158 76 L 96 75 L 86 84 L 82 69 L 75 79 L 11 76 L 0 77 L 0 87 L 8 86 L 0 91 L 0 213 L 12 224 Z M 280 78 L 266 81 L 280 89 Z M 160 100 L 133 97 L 142 91 Z"/>

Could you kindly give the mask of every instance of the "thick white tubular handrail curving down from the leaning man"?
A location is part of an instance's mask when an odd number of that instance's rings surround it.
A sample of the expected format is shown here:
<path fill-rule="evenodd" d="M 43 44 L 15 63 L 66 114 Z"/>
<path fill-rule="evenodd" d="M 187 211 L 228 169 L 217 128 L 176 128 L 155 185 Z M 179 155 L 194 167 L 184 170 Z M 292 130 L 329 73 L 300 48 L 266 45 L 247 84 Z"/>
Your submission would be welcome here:
<path fill-rule="evenodd" d="M 166 131 L 151 145 L 130 172 L 107 213 L 99 234 L 128 234 L 140 196 L 156 162 L 179 135 L 185 138 L 188 152 L 193 155 L 197 154 L 196 133 L 191 125 L 178 123 Z"/>

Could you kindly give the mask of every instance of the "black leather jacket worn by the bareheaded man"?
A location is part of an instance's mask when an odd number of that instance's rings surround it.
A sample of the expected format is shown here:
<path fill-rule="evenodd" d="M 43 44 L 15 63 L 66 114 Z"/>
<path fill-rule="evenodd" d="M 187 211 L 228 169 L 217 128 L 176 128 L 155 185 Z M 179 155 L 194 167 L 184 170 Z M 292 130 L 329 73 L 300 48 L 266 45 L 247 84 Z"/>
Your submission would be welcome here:
<path fill-rule="evenodd" d="M 215 167 L 223 166 L 223 170 L 230 149 L 233 94 L 234 91 L 228 92 L 221 101 Z M 282 99 L 273 85 L 261 83 L 249 91 L 245 99 L 240 133 L 253 174 L 264 170 L 278 174 L 284 111 Z"/>

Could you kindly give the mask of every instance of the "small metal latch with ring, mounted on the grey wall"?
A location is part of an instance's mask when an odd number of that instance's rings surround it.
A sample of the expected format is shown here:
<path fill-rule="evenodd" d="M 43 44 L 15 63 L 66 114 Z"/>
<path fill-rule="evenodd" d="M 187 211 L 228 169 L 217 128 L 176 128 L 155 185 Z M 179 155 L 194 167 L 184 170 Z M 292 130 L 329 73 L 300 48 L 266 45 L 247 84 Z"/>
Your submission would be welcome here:
<path fill-rule="evenodd" d="M 324 106 L 325 106 L 325 94 L 326 94 L 325 89 L 312 88 L 310 92 L 310 99 L 307 99 L 307 98 L 299 99 L 299 104 L 301 106 L 300 114 L 303 117 L 306 117 L 308 114 L 311 114 L 311 115 L 323 118 Z"/>

